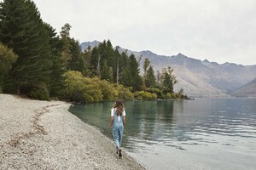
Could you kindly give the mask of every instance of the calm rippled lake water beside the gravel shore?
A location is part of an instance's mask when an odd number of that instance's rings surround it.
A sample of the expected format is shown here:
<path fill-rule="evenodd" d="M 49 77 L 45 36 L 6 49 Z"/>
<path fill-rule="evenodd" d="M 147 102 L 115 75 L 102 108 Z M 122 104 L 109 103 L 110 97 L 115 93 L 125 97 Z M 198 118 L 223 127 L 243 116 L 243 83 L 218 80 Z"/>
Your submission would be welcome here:
<path fill-rule="evenodd" d="M 112 105 L 70 111 L 112 139 Z M 122 147 L 147 169 L 256 168 L 256 99 L 129 101 L 125 108 Z"/>

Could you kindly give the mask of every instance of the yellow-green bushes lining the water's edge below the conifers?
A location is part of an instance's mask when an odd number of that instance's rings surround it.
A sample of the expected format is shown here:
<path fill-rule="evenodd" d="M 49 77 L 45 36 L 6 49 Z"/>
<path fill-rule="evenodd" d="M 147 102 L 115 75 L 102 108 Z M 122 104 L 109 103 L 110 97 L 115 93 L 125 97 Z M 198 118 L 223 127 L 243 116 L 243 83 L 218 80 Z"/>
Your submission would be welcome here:
<path fill-rule="evenodd" d="M 93 103 L 99 101 L 113 101 L 117 97 L 131 100 L 134 95 L 129 88 L 119 85 L 116 88 L 113 83 L 99 78 L 83 77 L 79 71 L 67 71 L 64 74 L 66 88 L 63 90 L 65 99 L 75 102 Z M 157 99 L 156 94 L 143 92 L 138 98 Z"/>

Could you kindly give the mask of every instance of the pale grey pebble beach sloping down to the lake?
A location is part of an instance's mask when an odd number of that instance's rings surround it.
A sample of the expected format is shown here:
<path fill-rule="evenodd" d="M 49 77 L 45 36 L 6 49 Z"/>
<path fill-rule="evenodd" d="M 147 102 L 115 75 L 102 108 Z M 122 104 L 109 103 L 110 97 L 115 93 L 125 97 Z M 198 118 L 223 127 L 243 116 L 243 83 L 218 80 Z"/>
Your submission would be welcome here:
<path fill-rule="evenodd" d="M 0 169 L 144 169 L 69 106 L 0 94 Z"/>

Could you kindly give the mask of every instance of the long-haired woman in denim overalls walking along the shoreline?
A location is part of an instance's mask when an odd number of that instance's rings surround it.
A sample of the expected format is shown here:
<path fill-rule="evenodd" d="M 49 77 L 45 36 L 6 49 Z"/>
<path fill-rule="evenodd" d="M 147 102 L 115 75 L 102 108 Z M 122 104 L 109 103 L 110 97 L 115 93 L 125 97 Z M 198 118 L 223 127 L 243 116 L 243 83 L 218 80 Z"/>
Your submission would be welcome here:
<path fill-rule="evenodd" d="M 111 109 L 111 127 L 113 126 L 113 140 L 116 146 L 116 153 L 122 157 L 121 143 L 125 125 L 125 106 L 121 99 L 116 99 Z"/>

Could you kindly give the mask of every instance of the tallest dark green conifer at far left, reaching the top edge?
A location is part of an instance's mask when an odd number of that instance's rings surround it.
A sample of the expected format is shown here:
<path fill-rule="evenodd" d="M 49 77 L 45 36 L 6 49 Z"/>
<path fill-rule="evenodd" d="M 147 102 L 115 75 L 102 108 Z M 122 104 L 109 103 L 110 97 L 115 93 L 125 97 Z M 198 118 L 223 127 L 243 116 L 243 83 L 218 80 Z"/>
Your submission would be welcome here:
<path fill-rule="evenodd" d="M 0 42 L 19 56 L 9 72 L 7 88 L 28 93 L 39 82 L 49 82 L 49 36 L 38 8 L 30 0 L 0 3 Z"/>

